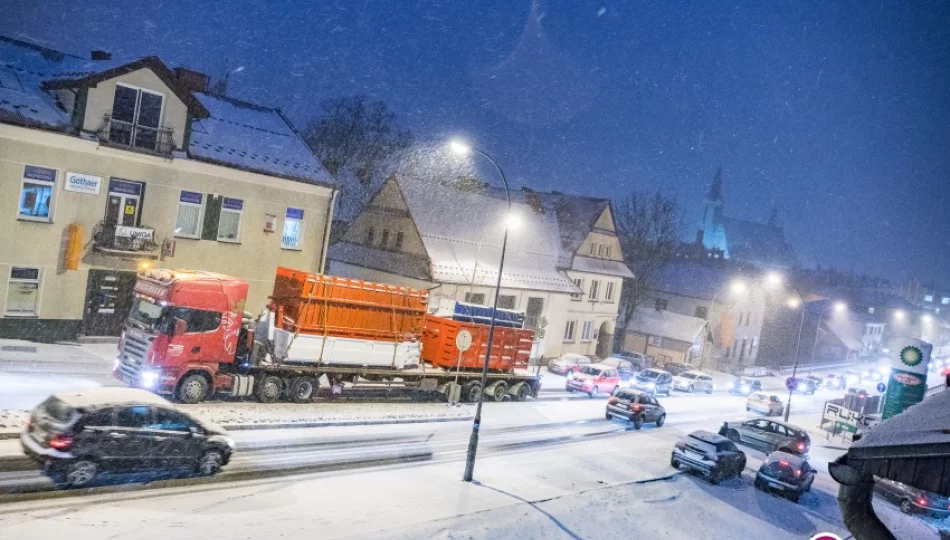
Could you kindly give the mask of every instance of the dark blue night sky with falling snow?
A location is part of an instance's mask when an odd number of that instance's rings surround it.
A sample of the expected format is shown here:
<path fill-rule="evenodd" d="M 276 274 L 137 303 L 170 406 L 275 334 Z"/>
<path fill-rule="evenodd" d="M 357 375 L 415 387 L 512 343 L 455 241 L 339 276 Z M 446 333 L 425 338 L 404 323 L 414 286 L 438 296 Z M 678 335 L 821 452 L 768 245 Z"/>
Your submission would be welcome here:
<path fill-rule="evenodd" d="M 200 4 L 200 5 L 196 5 Z M 713 5 L 717 4 L 717 5 Z M 698 224 L 779 209 L 808 265 L 950 286 L 950 7 L 941 2 L 0 1 L 0 33 L 156 54 L 300 126 L 365 93 L 516 183 L 659 188 Z"/>

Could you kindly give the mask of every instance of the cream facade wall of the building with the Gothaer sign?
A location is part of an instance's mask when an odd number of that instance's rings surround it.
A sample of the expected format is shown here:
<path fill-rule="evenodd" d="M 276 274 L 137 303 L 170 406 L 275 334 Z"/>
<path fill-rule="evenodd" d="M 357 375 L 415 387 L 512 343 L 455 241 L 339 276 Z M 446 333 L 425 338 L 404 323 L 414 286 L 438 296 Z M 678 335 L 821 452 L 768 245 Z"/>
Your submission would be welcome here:
<path fill-rule="evenodd" d="M 17 219 L 20 179 L 27 164 L 58 171 L 52 223 Z M 65 191 L 67 171 L 101 176 L 100 193 Z M 77 137 L 0 124 L 0 204 L 4 205 L 0 212 L 0 307 L 6 301 L 11 264 L 43 268 L 40 318 L 58 320 L 82 318 L 90 268 L 137 268 L 139 260 L 135 258 L 108 257 L 91 249 L 92 230 L 105 213 L 110 176 L 144 182 L 142 225 L 155 228 L 158 243 L 176 241 L 175 256 L 154 261 L 155 267 L 196 268 L 245 278 L 251 285 L 247 304 L 251 311 L 266 302 L 277 266 L 312 271 L 320 266 L 331 197 L 327 187 L 100 147 Z M 243 199 L 241 243 L 176 238 L 178 198 L 183 188 Z M 305 212 L 303 249 L 299 251 L 281 249 L 283 218 L 291 206 Z M 278 216 L 277 232 L 263 232 L 266 214 Z M 64 230 L 70 223 L 80 224 L 84 234 L 85 248 L 77 271 L 63 270 Z"/>

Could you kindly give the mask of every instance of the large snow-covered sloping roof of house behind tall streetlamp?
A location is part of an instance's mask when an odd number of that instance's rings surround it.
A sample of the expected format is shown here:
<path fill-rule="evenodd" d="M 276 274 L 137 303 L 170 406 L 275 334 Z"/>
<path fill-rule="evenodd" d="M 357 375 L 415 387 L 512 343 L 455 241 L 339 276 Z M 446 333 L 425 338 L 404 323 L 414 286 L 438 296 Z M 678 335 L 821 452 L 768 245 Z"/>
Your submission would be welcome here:
<path fill-rule="evenodd" d="M 407 176 L 396 179 L 429 256 L 431 278 L 494 287 L 508 208 L 483 192 Z M 512 202 L 520 223 L 508 233 L 501 286 L 579 292 L 558 268 L 557 224 L 546 214 Z"/>

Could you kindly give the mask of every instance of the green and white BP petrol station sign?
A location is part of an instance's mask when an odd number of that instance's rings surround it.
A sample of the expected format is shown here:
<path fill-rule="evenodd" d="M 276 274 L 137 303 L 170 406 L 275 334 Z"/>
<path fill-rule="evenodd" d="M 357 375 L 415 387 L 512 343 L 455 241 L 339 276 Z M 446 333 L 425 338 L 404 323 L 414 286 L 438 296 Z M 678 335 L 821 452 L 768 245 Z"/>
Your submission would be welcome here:
<path fill-rule="evenodd" d="M 891 359 L 891 377 L 884 394 L 884 420 L 920 403 L 927 392 L 927 364 L 933 347 L 919 339 L 901 339 L 895 345 L 897 354 Z"/>

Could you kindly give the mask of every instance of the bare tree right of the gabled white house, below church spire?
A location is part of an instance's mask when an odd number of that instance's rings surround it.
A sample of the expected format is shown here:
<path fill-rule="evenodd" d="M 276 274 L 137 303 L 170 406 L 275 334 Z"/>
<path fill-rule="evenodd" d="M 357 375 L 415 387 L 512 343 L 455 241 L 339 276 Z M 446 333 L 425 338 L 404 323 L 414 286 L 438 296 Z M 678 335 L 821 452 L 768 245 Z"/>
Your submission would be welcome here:
<path fill-rule="evenodd" d="M 624 262 L 634 275 L 624 280 L 620 296 L 623 326 L 618 326 L 614 341 L 619 350 L 623 347 L 626 324 L 646 299 L 653 279 L 676 255 L 683 219 L 676 200 L 659 191 L 635 191 L 620 200 L 614 211 Z"/>

